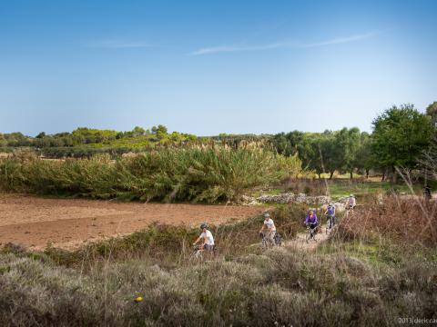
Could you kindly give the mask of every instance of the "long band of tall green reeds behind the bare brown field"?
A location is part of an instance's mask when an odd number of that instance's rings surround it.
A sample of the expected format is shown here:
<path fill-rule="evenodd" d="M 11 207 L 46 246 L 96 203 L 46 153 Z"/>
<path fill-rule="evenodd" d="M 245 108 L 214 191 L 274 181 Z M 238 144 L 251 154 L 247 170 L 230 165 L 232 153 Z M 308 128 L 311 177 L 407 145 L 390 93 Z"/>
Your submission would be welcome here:
<path fill-rule="evenodd" d="M 238 201 L 255 186 L 300 173 L 297 156 L 261 149 L 168 148 L 120 158 L 45 161 L 16 156 L 0 161 L 5 190 L 143 201 Z"/>

